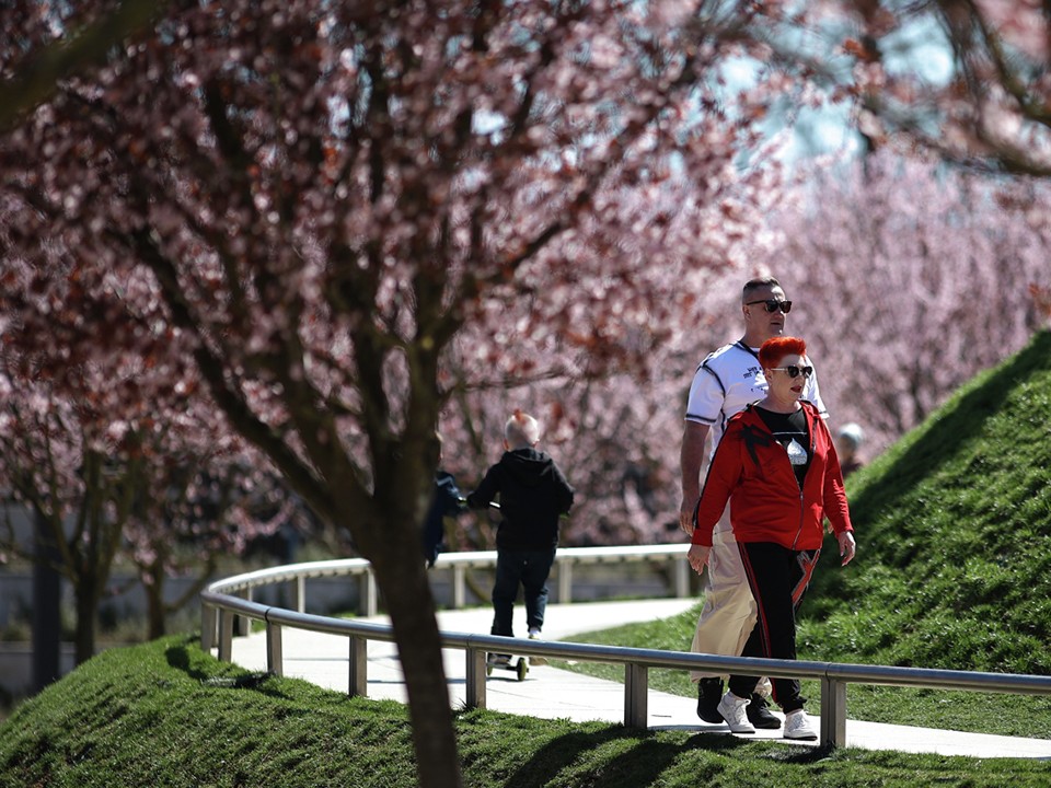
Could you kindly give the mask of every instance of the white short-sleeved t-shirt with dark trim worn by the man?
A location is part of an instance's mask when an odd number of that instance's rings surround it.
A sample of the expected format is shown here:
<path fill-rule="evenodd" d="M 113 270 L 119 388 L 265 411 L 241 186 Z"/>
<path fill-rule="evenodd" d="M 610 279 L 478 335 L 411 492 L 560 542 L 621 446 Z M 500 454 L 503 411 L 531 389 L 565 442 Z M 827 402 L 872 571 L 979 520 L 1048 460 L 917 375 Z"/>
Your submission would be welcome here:
<path fill-rule="evenodd" d="M 807 363 L 810 360 L 804 357 Z M 690 399 L 686 402 L 686 421 L 707 425 L 712 432 L 711 456 L 719 444 L 730 416 L 751 403 L 766 396 L 766 378 L 759 363 L 759 348 L 750 348 L 740 340 L 724 345 L 709 354 L 693 375 Z M 821 401 L 818 373 L 810 375 L 802 389 L 802 398 L 813 403 L 821 418 L 829 413 Z"/>

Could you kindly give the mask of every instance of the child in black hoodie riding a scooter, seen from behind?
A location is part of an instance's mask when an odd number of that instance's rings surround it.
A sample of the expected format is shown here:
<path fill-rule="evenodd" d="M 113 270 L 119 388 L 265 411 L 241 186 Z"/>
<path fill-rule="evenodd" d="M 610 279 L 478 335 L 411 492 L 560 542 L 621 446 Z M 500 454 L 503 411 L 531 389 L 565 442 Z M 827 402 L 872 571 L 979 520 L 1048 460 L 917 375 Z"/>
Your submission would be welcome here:
<path fill-rule="evenodd" d="M 496 532 L 493 635 L 515 636 L 511 618 L 519 584 L 524 590 L 529 637 L 539 637 L 544 626 L 558 518 L 573 506 L 574 490 L 555 461 L 536 449 L 539 442 L 536 419 L 515 410 L 504 427 L 504 456 L 467 496 L 472 509 L 484 509 L 499 496 L 503 520 Z M 505 654 L 494 658 L 507 661 Z"/>

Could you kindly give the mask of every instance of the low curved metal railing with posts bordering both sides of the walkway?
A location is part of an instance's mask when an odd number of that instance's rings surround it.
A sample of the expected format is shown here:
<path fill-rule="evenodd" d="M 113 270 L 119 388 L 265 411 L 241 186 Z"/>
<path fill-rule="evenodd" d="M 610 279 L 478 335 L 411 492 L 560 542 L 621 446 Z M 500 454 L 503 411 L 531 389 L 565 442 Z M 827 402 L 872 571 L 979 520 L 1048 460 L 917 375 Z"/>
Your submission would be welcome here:
<path fill-rule="evenodd" d="M 673 567 L 672 586 L 675 593 L 680 596 L 689 594 L 689 573 L 688 570 L 683 569 L 688 566 L 685 545 L 682 544 L 562 548 L 558 551 L 556 561 L 561 572 L 558 582 L 559 601 L 562 602 L 571 600 L 573 567 L 579 564 L 610 561 L 670 563 Z M 436 567 L 451 568 L 455 573 L 458 570 L 462 571 L 469 567 L 495 566 L 495 552 L 450 553 L 439 556 Z M 304 612 L 307 580 L 351 575 L 361 578 L 363 588 L 368 592 L 362 607 L 366 609 L 367 613 L 374 614 L 374 580 L 368 561 L 360 558 L 294 564 L 247 572 L 215 582 L 200 594 L 201 648 L 210 651 L 218 645 L 219 659 L 230 661 L 235 618 L 242 616 L 245 619 L 261 621 L 266 626 L 267 670 L 275 675 L 282 675 L 281 633 L 284 628 L 339 635 L 348 638 L 350 644 L 348 651 L 350 662 L 349 693 L 351 695 L 367 695 L 368 641 L 393 641 L 392 628 L 385 624 L 331 618 Z M 252 601 L 253 589 L 280 582 L 294 584 L 298 610 L 288 610 Z M 563 586 L 565 586 L 564 593 Z M 466 704 L 478 708 L 485 708 L 486 705 L 485 656 L 488 651 L 510 650 L 527 657 L 623 664 L 624 725 L 630 728 L 647 727 L 648 670 L 650 668 L 816 679 L 821 683 L 820 741 L 833 746 L 842 746 L 846 743 L 846 686 L 852 683 L 1020 695 L 1051 695 L 1051 676 L 1015 673 L 979 673 L 925 668 L 724 657 L 444 631 L 441 633 L 441 646 L 442 648 L 464 651 L 466 659 Z"/>

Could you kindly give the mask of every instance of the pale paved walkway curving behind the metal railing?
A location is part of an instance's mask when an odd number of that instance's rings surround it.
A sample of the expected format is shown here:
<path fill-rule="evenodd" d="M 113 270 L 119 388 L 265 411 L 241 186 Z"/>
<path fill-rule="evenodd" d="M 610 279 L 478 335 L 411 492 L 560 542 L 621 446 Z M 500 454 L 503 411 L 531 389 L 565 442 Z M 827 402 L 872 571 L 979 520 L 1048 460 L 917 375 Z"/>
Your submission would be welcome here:
<path fill-rule="evenodd" d="M 672 599 L 548 605 L 544 637 L 552 640 L 571 640 L 575 634 L 677 615 L 694 603 L 695 600 L 692 599 Z M 371 621 L 388 622 L 385 616 Z M 446 631 L 488 633 L 490 623 L 492 611 L 488 609 L 442 611 L 438 614 L 438 625 Z M 521 636 L 524 629 L 524 612 L 521 605 L 517 605 L 516 633 Z M 286 676 L 305 679 L 330 690 L 347 692 L 349 676 L 346 638 L 286 630 L 282 640 Z M 443 657 L 450 703 L 462 706 L 466 675 L 463 651 L 449 649 L 443 652 Z M 265 670 L 265 635 L 259 633 L 234 638 L 233 661 L 249 670 Z M 393 644 L 369 644 L 368 680 L 369 697 L 392 698 L 405 703 L 405 685 Z M 696 716 L 695 698 L 650 690 L 647 703 L 650 728 L 732 735 L 725 725 L 702 722 Z M 495 671 L 486 685 L 486 704 L 492 710 L 547 719 L 624 721 L 624 688 L 621 683 L 546 665 L 531 667 L 523 682 L 519 682 L 510 671 Z M 810 705 L 819 706 L 817 699 Z M 820 719 L 817 715 L 811 717 L 815 728 L 818 729 Z M 747 738 L 784 741 L 781 731 L 758 731 Z M 963 733 L 859 720 L 847 720 L 846 743 L 847 746 L 868 750 L 1051 761 L 1051 739 Z"/>

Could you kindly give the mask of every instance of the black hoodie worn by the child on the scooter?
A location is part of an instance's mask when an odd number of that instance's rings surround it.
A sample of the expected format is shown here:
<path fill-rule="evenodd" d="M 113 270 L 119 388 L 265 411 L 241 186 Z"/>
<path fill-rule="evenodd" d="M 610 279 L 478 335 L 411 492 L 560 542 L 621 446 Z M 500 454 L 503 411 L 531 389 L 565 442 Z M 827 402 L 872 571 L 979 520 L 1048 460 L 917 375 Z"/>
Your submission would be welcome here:
<path fill-rule="evenodd" d="M 504 452 L 467 506 L 484 509 L 497 495 L 503 521 L 499 549 L 548 549 L 558 545 L 558 515 L 573 506 L 573 487 L 547 454 L 536 449 Z"/>

